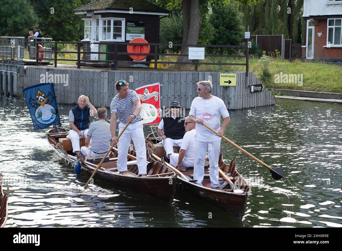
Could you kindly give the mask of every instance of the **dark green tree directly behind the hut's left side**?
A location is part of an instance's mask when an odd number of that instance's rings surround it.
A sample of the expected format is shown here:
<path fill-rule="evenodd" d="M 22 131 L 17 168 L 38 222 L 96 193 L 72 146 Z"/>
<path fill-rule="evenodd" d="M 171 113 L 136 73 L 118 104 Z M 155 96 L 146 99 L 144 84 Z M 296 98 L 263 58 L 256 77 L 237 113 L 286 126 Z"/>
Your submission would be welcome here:
<path fill-rule="evenodd" d="M 43 37 L 54 41 L 80 41 L 84 34 L 82 15 L 73 10 L 92 0 L 31 0 Z M 34 25 L 34 24 L 32 24 Z"/>

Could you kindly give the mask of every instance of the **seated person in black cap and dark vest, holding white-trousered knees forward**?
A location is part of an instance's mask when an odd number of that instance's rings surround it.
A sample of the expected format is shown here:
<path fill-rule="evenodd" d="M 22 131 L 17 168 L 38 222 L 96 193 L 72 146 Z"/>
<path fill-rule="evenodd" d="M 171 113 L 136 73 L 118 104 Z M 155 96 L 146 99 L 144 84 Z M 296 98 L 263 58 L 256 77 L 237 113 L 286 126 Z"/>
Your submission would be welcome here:
<path fill-rule="evenodd" d="M 185 129 L 183 114 L 180 112 L 180 103 L 178 101 L 172 101 L 169 108 L 170 112 L 166 113 L 160 121 L 158 134 L 162 138 L 166 156 L 170 159 L 173 153 L 173 145 L 182 146 Z M 162 129 L 164 129 L 164 133 Z"/>

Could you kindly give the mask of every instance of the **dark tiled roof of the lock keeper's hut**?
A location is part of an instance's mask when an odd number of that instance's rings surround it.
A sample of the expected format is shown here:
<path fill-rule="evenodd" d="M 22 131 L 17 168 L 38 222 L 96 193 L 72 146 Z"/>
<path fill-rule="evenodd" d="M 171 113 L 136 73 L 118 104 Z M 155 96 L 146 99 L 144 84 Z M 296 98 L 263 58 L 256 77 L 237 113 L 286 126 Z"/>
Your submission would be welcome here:
<path fill-rule="evenodd" d="M 96 0 L 94 2 L 83 5 L 74 11 L 93 11 L 93 10 L 130 10 L 134 11 L 146 11 L 146 12 L 162 12 L 168 13 L 158 5 L 150 3 L 146 0 Z"/>

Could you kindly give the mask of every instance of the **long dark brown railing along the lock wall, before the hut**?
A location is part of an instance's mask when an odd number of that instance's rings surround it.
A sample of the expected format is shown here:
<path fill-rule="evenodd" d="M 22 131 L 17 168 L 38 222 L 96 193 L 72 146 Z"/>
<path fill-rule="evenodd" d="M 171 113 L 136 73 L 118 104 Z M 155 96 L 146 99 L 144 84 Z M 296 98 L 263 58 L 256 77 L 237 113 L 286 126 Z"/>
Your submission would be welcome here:
<path fill-rule="evenodd" d="M 54 67 L 57 67 L 57 61 L 76 61 L 77 68 L 80 69 L 81 62 L 108 62 L 114 63 L 115 69 L 117 69 L 118 61 L 121 63 L 132 63 L 132 61 L 122 61 L 118 60 L 118 55 L 153 55 L 154 61 L 134 61 L 135 63 L 139 62 L 140 64 L 154 64 L 154 69 L 157 70 L 158 64 L 188 64 L 195 65 L 195 71 L 198 70 L 198 65 L 241 65 L 246 66 L 246 76 L 248 76 L 248 58 L 249 58 L 249 48 L 247 45 L 207 45 L 207 44 L 173 44 L 173 46 L 186 46 L 186 47 L 219 47 L 219 48 L 242 48 L 246 49 L 246 55 L 210 55 L 205 54 L 205 57 L 237 57 L 237 58 L 245 58 L 246 63 L 215 63 L 215 62 L 198 62 L 198 59 L 194 59 L 194 62 L 169 62 L 169 61 L 158 61 L 158 56 L 188 56 L 188 54 L 169 54 L 169 53 L 159 53 L 158 46 L 169 46 L 169 44 L 161 44 L 161 43 L 116 43 L 116 42 L 46 42 L 54 44 L 54 51 L 47 50 L 41 51 L 44 53 L 44 57 L 38 57 L 38 50 L 36 51 L 36 65 L 39 65 L 39 59 L 49 59 L 45 58 L 45 52 L 50 52 L 54 54 Z M 76 44 L 77 51 L 57 51 L 57 44 Z M 110 44 L 114 45 L 113 52 L 81 52 L 81 46 L 83 44 Z M 118 52 L 118 45 L 149 45 L 154 46 L 154 53 L 128 53 L 128 52 Z M 36 45 L 36 49 L 38 49 L 38 44 Z M 77 59 L 65 59 L 65 58 L 57 58 L 57 53 L 76 53 Z M 114 60 L 88 60 L 81 59 L 81 54 L 107 54 L 114 55 Z"/>

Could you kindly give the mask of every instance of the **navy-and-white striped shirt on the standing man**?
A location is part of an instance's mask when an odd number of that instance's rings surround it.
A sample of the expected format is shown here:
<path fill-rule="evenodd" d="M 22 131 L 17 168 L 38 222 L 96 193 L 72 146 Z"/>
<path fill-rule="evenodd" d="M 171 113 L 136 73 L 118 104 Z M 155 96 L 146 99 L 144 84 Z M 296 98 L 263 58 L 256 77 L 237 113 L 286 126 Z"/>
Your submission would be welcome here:
<path fill-rule="evenodd" d="M 119 94 L 117 94 L 110 103 L 110 113 L 117 113 L 119 121 L 121 123 L 128 123 L 127 118 L 133 115 L 135 106 L 134 101 L 139 100 L 139 96 L 134 92 L 134 90 L 129 90 L 126 98 L 119 99 Z M 136 115 L 136 114 L 135 114 Z M 133 122 L 142 120 L 140 113 L 136 115 Z"/>

